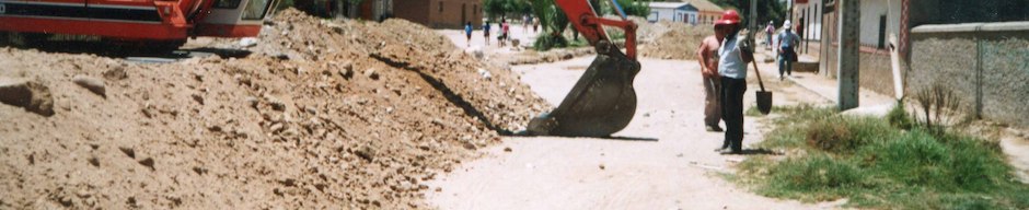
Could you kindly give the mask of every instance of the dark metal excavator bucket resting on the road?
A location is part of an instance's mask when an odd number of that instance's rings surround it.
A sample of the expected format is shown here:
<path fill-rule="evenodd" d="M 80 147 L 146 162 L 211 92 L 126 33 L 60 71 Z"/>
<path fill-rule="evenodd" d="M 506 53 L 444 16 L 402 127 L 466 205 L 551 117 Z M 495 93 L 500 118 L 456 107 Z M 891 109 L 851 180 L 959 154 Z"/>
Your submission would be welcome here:
<path fill-rule="evenodd" d="M 554 110 L 533 118 L 532 136 L 610 137 L 636 114 L 633 80 L 639 62 L 608 40 L 596 44 L 597 58 Z"/>

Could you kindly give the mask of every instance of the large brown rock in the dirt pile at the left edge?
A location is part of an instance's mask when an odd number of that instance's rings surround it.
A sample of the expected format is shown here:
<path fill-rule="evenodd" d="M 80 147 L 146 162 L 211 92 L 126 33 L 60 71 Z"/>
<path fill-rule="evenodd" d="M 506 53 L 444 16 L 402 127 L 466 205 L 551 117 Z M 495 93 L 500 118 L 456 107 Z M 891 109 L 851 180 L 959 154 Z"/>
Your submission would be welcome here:
<path fill-rule="evenodd" d="M 49 89 L 33 81 L 0 78 L 0 102 L 43 116 L 54 115 L 54 98 Z"/>

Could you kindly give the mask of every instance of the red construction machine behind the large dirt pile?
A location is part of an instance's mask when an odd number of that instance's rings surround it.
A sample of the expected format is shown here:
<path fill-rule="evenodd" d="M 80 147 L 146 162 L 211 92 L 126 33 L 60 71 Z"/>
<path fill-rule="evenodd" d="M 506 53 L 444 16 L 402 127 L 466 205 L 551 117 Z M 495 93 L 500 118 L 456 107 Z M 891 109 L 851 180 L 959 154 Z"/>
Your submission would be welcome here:
<path fill-rule="evenodd" d="M 273 5 L 274 0 L 0 0 L 0 33 L 177 48 L 195 36 L 257 36 Z"/>

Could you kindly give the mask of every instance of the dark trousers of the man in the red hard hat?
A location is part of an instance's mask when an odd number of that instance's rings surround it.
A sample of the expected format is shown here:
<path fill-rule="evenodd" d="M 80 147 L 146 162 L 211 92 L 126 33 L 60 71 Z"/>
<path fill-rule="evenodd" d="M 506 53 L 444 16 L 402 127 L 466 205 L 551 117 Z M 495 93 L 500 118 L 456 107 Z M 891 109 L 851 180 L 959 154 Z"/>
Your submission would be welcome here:
<path fill-rule="evenodd" d="M 747 80 L 721 77 L 721 116 L 726 121 L 726 139 L 721 148 L 743 150 L 743 93 Z"/>

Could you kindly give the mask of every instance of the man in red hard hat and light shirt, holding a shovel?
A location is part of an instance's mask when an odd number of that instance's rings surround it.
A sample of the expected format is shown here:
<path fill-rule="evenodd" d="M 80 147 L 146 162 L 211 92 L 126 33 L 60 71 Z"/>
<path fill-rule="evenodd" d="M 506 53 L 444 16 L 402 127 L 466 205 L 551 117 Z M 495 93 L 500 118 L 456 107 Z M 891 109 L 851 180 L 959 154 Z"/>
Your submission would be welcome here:
<path fill-rule="evenodd" d="M 745 33 L 740 33 L 740 14 L 728 10 L 715 22 L 716 33 L 725 34 L 718 48 L 718 74 L 721 75 L 721 112 L 726 121 L 726 138 L 717 152 L 743 152 L 743 93 L 747 92 L 747 63 L 754 60 L 753 45 Z"/>

